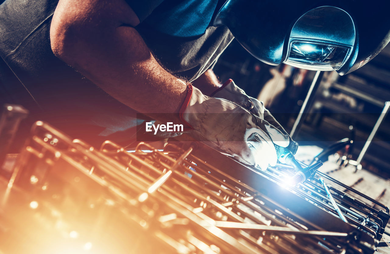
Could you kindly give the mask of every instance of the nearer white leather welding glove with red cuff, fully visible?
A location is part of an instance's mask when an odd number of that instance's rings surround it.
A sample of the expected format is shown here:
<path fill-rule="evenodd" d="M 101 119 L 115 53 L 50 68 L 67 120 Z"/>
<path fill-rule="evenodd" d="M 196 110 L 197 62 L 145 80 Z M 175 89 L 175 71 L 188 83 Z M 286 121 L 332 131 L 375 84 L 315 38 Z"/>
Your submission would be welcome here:
<path fill-rule="evenodd" d="M 277 162 L 274 143 L 289 145 L 289 137 L 267 121 L 231 101 L 205 96 L 196 87 L 190 86 L 180 117 L 195 139 L 262 170 Z"/>

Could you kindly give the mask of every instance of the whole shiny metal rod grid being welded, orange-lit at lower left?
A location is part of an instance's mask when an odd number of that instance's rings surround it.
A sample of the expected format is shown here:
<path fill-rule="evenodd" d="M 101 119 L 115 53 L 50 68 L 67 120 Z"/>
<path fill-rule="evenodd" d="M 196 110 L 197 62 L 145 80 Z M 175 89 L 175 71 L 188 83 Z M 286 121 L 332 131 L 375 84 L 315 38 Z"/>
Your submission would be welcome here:
<path fill-rule="evenodd" d="M 0 250 L 374 252 L 385 215 L 367 216 L 363 202 L 331 187 L 344 223 L 317 179 L 289 187 L 289 175 L 285 165 L 259 171 L 199 142 L 163 150 L 140 142 L 129 153 L 106 141 L 98 150 L 37 122 L 11 178 L 0 181 L 0 218 L 10 225 Z"/>

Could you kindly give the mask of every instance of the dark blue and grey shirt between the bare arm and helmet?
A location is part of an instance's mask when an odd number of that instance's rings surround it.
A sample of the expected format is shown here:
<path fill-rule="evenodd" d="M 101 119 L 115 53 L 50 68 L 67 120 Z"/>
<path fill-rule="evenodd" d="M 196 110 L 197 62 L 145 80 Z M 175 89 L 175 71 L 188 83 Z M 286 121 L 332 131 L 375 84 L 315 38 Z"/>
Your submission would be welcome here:
<path fill-rule="evenodd" d="M 127 0 L 136 27 L 161 65 L 192 81 L 209 69 L 233 39 L 227 27 L 210 25 L 218 0 Z"/>

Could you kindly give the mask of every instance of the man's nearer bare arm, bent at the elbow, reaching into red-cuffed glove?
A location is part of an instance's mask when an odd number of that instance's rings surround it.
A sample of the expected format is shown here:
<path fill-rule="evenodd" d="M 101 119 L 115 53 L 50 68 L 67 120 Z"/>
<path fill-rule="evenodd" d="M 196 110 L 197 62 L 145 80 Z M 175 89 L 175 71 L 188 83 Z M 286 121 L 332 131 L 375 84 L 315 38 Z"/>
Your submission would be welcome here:
<path fill-rule="evenodd" d="M 60 0 L 51 22 L 51 48 L 128 107 L 145 114 L 177 113 L 186 83 L 158 64 L 133 28 L 138 23 L 124 0 Z"/>

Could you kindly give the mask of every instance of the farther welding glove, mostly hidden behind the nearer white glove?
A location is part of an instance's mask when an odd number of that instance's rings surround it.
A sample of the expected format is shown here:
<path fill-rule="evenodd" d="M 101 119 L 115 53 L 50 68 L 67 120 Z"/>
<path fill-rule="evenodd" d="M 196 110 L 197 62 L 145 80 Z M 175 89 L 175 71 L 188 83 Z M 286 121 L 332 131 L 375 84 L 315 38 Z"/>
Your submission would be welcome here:
<path fill-rule="evenodd" d="M 275 117 L 273 117 L 273 115 L 271 115 L 271 113 L 264 107 L 262 101 L 248 96 L 243 89 L 239 88 L 233 82 L 233 80 L 227 80 L 220 88 L 213 92 L 211 96 L 232 101 L 237 105 L 246 108 L 261 119 L 266 120 L 269 124 L 276 127 L 278 130 L 280 130 L 280 132 L 289 137 L 290 144 L 287 148 L 293 153 L 293 155 L 296 153 L 296 150 L 298 149 L 298 143 L 291 139 L 291 137 L 287 134 L 287 131 L 284 130 L 278 121 L 276 121 Z"/>

